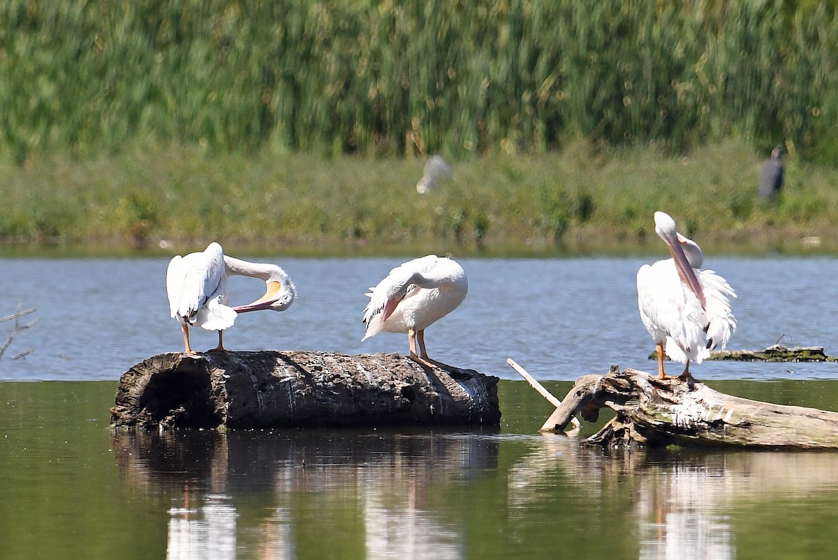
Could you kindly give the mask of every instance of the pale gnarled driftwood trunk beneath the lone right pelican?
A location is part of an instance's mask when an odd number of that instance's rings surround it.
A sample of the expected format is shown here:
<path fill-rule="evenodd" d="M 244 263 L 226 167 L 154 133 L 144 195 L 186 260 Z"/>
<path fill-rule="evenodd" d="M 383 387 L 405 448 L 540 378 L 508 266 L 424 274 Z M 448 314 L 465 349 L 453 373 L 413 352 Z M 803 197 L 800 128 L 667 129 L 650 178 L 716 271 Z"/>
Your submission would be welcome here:
<path fill-rule="evenodd" d="M 616 366 L 578 378 L 545 427 L 564 429 L 577 413 L 596 421 L 601 408 L 616 417 L 583 443 L 838 449 L 838 413 L 733 397 L 695 380 L 658 380 Z"/>

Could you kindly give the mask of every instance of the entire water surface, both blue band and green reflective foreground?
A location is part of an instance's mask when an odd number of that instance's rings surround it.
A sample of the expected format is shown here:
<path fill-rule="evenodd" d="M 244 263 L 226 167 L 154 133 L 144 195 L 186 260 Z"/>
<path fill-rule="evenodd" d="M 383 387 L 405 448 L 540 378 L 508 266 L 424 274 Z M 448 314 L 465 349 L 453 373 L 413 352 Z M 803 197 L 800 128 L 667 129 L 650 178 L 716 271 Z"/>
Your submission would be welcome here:
<path fill-rule="evenodd" d="M 647 260 L 463 259 L 468 298 L 427 344 L 504 378 L 499 429 L 124 434 L 108 426 L 116 379 L 182 348 L 166 260 L 0 259 L 0 314 L 23 301 L 40 318 L 0 360 L 0 557 L 838 556 L 838 454 L 608 456 L 537 434 L 551 408 L 506 357 L 560 397 L 611 363 L 654 367 L 634 291 Z M 365 289 L 394 264 L 282 259 L 299 300 L 241 316 L 225 343 L 405 352 L 404 335 L 360 343 Z M 707 265 L 740 296 L 732 348 L 785 335 L 838 352 L 838 261 Z M 261 295 L 260 282 L 235 280 L 236 303 Z M 0 342 L 7 334 L 0 323 Z M 213 347 L 215 335 L 194 342 Z M 727 393 L 838 410 L 836 367 L 706 362 L 695 373 Z M 54 381 L 22 383 L 39 379 Z"/>

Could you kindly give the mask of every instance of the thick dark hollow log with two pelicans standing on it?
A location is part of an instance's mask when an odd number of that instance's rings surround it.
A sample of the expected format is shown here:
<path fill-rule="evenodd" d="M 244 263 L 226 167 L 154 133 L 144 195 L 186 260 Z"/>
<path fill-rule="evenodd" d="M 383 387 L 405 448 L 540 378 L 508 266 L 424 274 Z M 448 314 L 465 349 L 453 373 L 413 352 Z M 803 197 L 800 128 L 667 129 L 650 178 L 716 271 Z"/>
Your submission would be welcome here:
<path fill-rule="evenodd" d="M 122 374 L 111 424 L 142 428 L 499 424 L 498 378 L 398 354 L 158 354 Z"/>

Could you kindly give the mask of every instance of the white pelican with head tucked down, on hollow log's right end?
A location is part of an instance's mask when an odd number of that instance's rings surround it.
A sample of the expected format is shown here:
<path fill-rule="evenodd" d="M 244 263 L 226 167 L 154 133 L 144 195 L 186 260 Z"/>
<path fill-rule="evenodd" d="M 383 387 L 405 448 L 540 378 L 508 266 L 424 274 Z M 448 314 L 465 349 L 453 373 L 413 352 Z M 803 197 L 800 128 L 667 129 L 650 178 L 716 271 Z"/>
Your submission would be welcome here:
<path fill-rule="evenodd" d="M 370 290 L 370 303 L 364 310 L 367 330 L 361 341 L 380 331 L 406 332 L 414 362 L 438 363 L 427 356 L 425 329 L 463 303 L 468 292 L 463 267 L 429 254 L 397 266 Z"/>

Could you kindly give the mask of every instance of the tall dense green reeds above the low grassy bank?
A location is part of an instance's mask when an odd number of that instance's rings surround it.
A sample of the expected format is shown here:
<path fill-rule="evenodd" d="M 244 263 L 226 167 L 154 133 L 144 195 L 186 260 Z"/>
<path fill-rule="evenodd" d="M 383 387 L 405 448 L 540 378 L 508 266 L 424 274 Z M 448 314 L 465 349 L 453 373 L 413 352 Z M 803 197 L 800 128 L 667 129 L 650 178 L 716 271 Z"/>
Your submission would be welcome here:
<path fill-rule="evenodd" d="M 0 6 L 0 151 L 682 151 L 838 164 L 835 3 L 164 0 Z"/>

